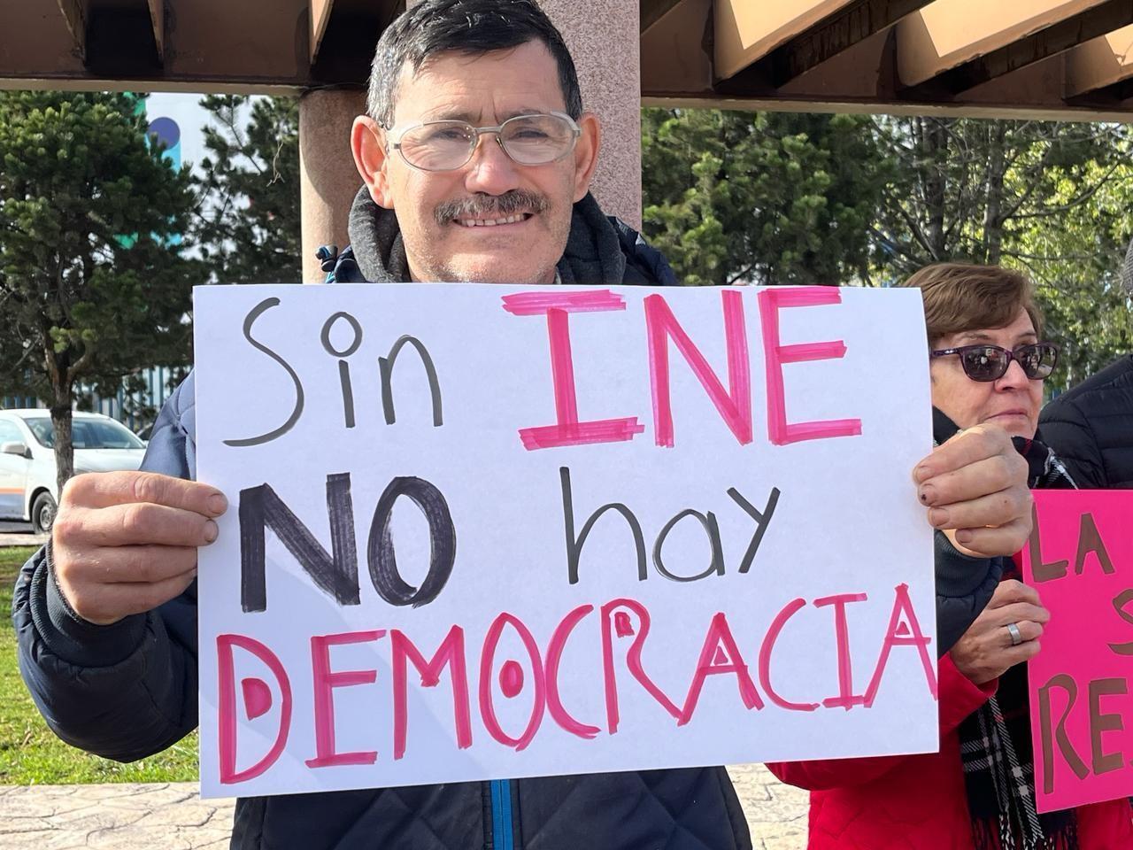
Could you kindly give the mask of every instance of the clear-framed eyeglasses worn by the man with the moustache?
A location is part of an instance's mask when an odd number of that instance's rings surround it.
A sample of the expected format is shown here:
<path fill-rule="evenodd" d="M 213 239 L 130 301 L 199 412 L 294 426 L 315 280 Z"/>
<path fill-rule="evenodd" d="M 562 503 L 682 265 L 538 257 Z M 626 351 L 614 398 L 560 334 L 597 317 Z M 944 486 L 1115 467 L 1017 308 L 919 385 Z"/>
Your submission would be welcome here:
<path fill-rule="evenodd" d="M 574 150 L 582 133 L 562 112 L 516 116 L 497 127 L 467 121 L 426 121 L 407 127 L 392 143 L 407 163 L 421 171 L 454 171 L 476 153 L 480 136 L 494 133 L 505 154 L 520 165 L 546 165 Z"/>

